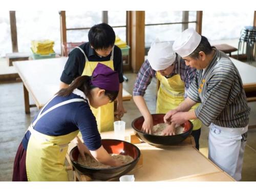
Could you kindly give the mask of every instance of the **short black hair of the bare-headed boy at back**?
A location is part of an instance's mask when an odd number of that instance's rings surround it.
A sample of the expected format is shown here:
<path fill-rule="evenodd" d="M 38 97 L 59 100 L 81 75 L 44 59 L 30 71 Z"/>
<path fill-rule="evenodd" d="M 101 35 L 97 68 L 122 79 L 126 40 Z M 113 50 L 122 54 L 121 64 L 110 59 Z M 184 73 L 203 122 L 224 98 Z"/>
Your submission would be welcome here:
<path fill-rule="evenodd" d="M 94 49 L 108 49 L 114 46 L 116 34 L 110 25 L 102 23 L 89 30 L 88 39 Z"/>

